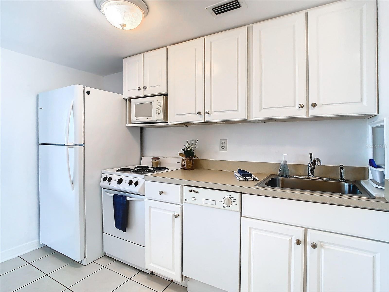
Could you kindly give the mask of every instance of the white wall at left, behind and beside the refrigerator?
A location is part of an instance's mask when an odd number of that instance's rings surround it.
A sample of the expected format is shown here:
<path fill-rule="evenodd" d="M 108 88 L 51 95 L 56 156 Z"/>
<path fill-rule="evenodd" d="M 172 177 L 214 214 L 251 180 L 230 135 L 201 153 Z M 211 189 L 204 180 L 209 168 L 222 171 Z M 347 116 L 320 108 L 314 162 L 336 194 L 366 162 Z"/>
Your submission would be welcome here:
<path fill-rule="evenodd" d="M 1 245 L 4 261 L 39 246 L 37 95 L 103 77 L 1 49 Z"/>

